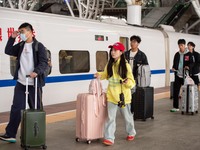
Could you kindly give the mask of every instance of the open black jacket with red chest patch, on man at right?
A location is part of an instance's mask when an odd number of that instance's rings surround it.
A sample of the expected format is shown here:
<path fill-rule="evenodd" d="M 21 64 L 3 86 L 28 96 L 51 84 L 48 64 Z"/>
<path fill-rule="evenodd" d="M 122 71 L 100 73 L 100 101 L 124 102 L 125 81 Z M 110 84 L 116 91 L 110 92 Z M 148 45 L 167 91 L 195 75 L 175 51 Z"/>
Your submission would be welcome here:
<path fill-rule="evenodd" d="M 178 66 L 179 66 L 179 61 L 180 61 L 180 53 L 176 52 L 176 54 L 174 55 L 174 60 L 173 60 L 173 66 L 172 68 L 174 68 L 175 70 L 178 70 Z M 189 75 L 192 75 L 192 66 L 193 66 L 193 59 L 192 59 L 192 54 L 190 52 L 184 54 L 183 56 L 183 69 L 185 68 L 185 66 L 189 67 Z M 184 70 L 183 70 L 184 72 Z M 174 72 L 175 75 L 177 75 L 177 72 Z"/>

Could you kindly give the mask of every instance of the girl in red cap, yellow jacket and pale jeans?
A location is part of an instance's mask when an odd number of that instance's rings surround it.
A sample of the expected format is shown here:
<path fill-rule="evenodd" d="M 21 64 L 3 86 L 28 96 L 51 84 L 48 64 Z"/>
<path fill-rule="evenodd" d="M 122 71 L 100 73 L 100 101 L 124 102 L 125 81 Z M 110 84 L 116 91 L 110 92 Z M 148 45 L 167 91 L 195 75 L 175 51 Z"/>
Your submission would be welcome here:
<path fill-rule="evenodd" d="M 116 114 L 118 108 L 126 123 L 126 140 L 132 141 L 136 135 L 133 114 L 130 111 L 131 89 L 135 86 L 132 70 L 125 60 L 125 47 L 117 42 L 109 46 L 110 59 L 104 72 L 98 72 L 95 77 L 109 81 L 107 88 L 108 120 L 105 125 L 103 144 L 113 145 L 116 130 Z M 123 94 L 122 94 L 123 93 Z"/>

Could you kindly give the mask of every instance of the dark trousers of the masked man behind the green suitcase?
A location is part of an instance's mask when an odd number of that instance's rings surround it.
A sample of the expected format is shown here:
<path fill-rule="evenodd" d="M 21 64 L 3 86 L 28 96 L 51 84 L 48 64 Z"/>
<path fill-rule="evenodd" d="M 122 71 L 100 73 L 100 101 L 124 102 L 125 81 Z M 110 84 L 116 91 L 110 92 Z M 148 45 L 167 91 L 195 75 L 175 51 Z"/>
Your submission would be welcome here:
<path fill-rule="evenodd" d="M 28 105 L 30 109 L 35 107 L 35 87 L 29 86 L 29 95 L 28 95 Z M 26 107 L 25 102 L 25 91 L 26 86 L 22 85 L 21 83 L 17 82 L 15 89 L 14 89 L 14 97 L 13 97 L 13 104 L 11 106 L 10 112 L 10 120 L 6 127 L 6 134 L 10 137 L 15 138 L 17 134 L 17 130 L 21 121 L 21 110 L 24 110 Z M 42 88 L 38 88 L 38 103 L 37 109 L 40 109 L 42 106 L 41 98 L 42 98 Z"/>

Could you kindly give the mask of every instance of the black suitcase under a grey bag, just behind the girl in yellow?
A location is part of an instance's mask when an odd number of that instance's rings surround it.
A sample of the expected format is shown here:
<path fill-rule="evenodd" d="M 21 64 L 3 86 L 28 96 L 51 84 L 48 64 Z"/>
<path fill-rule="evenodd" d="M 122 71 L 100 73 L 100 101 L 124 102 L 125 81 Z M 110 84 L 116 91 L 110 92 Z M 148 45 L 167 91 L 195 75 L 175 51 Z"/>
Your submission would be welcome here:
<path fill-rule="evenodd" d="M 137 87 L 136 92 L 132 95 L 132 112 L 134 112 L 134 120 L 147 118 L 154 119 L 154 88 L 153 87 Z"/>

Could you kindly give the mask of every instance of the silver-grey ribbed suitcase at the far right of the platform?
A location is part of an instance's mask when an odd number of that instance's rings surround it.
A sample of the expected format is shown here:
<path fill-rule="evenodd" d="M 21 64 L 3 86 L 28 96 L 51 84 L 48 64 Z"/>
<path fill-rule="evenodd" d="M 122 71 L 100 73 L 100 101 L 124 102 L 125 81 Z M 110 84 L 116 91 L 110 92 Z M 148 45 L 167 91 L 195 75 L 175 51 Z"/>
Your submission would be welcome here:
<path fill-rule="evenodd" d="M 197 85 L 183 85 L 181 97 L 181 113 L 198 113 Z"/>

